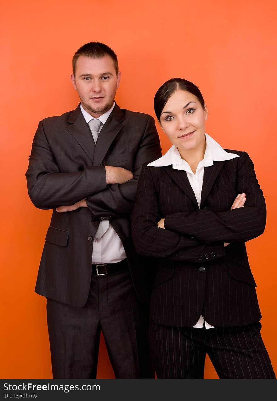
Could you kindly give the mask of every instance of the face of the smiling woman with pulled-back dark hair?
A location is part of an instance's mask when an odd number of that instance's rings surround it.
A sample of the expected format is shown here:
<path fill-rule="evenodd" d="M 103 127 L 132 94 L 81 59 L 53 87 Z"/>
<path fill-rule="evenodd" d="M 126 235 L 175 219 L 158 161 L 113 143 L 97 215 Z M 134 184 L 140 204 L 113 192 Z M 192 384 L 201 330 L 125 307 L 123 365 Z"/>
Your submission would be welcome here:
<path fill-rule="evenodd" d="M 198 150 L 205 144 L 207 115 L 195 95 L 178 89 L 162 109 L 160 124 L 179 151 Z"/>

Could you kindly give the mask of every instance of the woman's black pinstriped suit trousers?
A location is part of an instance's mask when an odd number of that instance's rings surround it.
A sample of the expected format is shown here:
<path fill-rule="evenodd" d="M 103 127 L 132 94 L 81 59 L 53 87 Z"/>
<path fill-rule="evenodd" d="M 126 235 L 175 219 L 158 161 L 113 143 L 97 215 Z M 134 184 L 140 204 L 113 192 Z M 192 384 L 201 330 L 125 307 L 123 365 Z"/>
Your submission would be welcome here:
<path fill-rule="evenodd" d="M 150 323 L 157 377 L 203 379 L 208 354 L 220 379 L 275 379 L 260 330 L 260 322 L 210 329 Z"/>

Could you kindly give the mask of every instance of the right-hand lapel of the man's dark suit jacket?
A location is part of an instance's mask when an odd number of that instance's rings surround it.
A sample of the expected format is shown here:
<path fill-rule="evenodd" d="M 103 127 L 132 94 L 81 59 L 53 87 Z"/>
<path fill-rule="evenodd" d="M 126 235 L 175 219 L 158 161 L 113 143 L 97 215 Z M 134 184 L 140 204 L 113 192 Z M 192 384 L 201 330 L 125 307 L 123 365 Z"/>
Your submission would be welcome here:
<path fill-rule="evenodd" d="M 113 111 L 105 122 L 95 145 L 95 156 L 93 166 L 100 166 L 111 146 L 113 140 L 123 127 L 122 121 L 125 119 L 123 111 L 115 103 Z"/>

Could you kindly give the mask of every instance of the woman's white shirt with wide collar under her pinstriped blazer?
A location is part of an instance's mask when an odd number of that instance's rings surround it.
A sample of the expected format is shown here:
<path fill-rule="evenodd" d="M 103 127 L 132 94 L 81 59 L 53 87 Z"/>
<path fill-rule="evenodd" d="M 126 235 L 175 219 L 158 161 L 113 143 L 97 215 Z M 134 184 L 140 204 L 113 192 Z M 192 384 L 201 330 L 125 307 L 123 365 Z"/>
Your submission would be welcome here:
<path fill-rule="evenodd" d="M 204 159 L 200 160 L 200 162 L 198 163 L 195 174 L 192 172 L 192 169 L 190 168 L 189 164 L 181 158 L 178 148 L 176 148 L 176 146 L 174 145 L 171 146 L 171 148 L 168 150 L 168 152 L 166 152 L 166 154 L 164 154 L 164 156 L 148 164 L 148 166 L 155 166 L 155 167 L 170 166 L 172 164 L 172 168 L 175 168 L 176 170 L 186 171 L 186 174 L 188 176 L 188 181 L 190 182 L 190 185 L 194 191 L 199 208 L 201 203 L 204 167 L 212 166 L 214 164 L 213 160 L 217 162 L 222 162 L 224 160 L 231 160 L 236 157 L 239 157 L 239 155 L 235 153 L 225 152 L 225 150 L 221 148 L 220 144 L 218 144 L 208 134 L 205 134 L 205 138 L 206 138 L 206 150 L 204 154 Z M 204 318 L 202 315 L 200 316 L 198 322 L 192 327 L 196 328 L 204 327 Z M 214 326 L 211 326 L 207 322 L 205 322 L 205 327 L 214 328 Z"/>

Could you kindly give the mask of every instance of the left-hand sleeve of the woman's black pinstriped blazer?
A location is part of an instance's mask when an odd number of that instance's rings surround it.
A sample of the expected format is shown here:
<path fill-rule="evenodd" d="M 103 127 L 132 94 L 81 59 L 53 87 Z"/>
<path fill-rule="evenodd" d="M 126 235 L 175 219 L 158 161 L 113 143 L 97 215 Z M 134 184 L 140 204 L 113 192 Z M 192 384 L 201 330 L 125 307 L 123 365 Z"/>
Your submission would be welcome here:
<path fill-rule="evenodd" d="M 223 242 L 204 245 L 195 239 L 166 229 L 158 228 L 158 193 L 150 168 L 142 168 L 137 196 L 131 215 L 132 237 L 137 253 L 143 256 L 167 257 L 179 261 L 200 263 L 203 255 L 212 259 L 225 256 Z"/>

